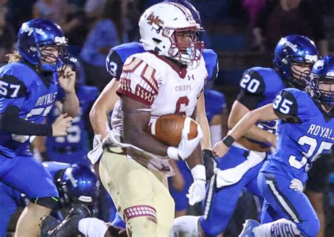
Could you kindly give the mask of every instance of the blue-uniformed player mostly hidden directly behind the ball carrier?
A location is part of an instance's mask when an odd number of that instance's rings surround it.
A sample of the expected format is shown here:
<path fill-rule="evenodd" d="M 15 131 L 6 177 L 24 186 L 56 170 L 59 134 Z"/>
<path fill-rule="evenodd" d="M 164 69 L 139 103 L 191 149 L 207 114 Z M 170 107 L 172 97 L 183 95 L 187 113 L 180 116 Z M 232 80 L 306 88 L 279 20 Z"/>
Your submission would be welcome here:
<path fill-rule="evenodd" d="M 166 0 L 166 2 L 175 2 L 182 4 L 183 6 L 185 6 L 190 10 L 194 20 L 199 25 L 202 25 L 199 12 L 187 0 Z M 202 32 L 199 31 L 198 34 L 202 34 Z M 92 110 L 89 114 L 90 122 L 92 123 L 94 133 L 101 135 L 102 139 L 104 139 L 107 135 L 106 131 L 107 131 L 108 115 L 113 110 L 116 101 L 119 100 L 119 96 L 116 95 L 116 91 L 119 86 L 119 78 L 122 72 L 123 64 L 129 56 L 132 56 L 135 53 L 143 53 L 144 51 L 145 50 L 142 42 L 120 44 L 119 46 L 113 47 L 113 49 L 109 51 L 109 55 L 106 58 L 106 68 L 110 73 L 110 75 L 113 77 L 113 79 L 111 80 L 111 82 L 109 82 L 109 84 L 107 84 L 107 86 L 101 92 L 99 98 L 97 98 L 97 101 L 94 103 Z M 214 81 L 218 76 L 217 54 L 212 49 L 204 49 L 203 58 L 205 61 L 206 70 L 209 74 L 207 80 Z M 209 138 L 210 137 L 209 124 L 206 120 L 206 116 L 204 113 L 205 111 L 204 102 L 202 103 L 202 106 L 199 106 L 199 108 L 197 108 L 197 110 L 199 110 L 199 113 L 197 113 L 197 122 L 199 122 L 199 124 L 203 129 L 204 138 L 206 137 Z M 203 139 L 202 148 L 206 149 L 208 153 L 211 153 L 210 139 Z"/>

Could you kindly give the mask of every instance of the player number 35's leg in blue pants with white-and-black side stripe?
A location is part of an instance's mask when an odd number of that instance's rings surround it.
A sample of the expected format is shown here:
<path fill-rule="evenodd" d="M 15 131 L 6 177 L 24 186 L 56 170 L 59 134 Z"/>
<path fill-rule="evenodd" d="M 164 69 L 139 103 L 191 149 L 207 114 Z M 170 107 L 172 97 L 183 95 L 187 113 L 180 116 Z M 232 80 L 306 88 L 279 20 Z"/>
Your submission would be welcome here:
<path fill-rule="evenodd" d="M 264 174 L 260 172 L 259 187 L 268 200 L 270 206 L 281 219 L 275 222 L 252 226 L 249 222 L 244 226 L 240 236 L 247 236 L 247 227 L 254 236 L 316 236 L 320 228 L 316 212 L 314 212 L 307 196 L 302 191 L 290 188 L 290 179 L 287 177 Z M 247 232 L 247 233 L 246 233 Z"/>

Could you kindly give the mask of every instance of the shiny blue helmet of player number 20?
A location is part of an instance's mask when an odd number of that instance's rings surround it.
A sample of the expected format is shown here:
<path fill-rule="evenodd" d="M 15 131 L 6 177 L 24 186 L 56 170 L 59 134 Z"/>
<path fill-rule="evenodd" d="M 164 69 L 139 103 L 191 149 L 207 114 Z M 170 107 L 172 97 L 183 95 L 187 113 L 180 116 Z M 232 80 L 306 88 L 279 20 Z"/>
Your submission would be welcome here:
<path fill-rule="evenodd" d="M 290 87 L 305 89 L 308 85 L 311 67 L 318 60 L 318 50 L 311 39 L 299 34 L 291 34 L 278 41 L 273 65 Z M 293 65 L 309 67 L 310 70 L 292 70 Z"/>

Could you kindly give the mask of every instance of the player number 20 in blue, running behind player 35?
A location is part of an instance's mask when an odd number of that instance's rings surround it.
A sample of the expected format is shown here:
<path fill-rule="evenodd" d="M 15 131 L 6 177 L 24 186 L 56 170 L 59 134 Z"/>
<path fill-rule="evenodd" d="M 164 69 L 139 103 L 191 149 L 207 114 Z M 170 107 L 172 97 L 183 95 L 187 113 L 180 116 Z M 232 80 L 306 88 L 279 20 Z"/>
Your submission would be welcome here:
<path fill-rule="evenodd" d="M 235 126 L 249 110 L 271 103 L 278 91 L 286 87 L 304 89 L 317 57 L 316 46 L 307 37 L 293 34 L 280 39 L 275 49 L 274 68 L 254 67 L 245 71 L 228 126 Z M 216 179 L 211 179 L 204 202 L 204 215 L 175 219 L 175 236 L 178 233 L 182 233 L 181 236 L 217 236 L 225 231 L 243 188 L 261 197 L 256 177 L 266 152 L 276 139 L 275 134 L 276 121 L 259 122 L 233 143 L 218 161 Z"/>

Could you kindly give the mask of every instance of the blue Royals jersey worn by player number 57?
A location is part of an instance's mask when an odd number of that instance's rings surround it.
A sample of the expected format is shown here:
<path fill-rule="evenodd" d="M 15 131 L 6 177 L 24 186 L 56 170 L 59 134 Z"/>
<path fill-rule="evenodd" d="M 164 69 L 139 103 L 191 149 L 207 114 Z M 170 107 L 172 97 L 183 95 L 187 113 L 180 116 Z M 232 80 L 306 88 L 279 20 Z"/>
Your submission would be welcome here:
<path fill-rule="evenodd" d="M 58 99 L 58 77 L 41 75 L 29 65 L 21 62 L 9 63 L 0 68 L 0 113 L 9 105 L 20 109 L 19 117 L 42 124 L 44 118 Z M 27 151 L 30 136 L 0 131 L 0 150 L 8 157 L 15 157 Z"/>

